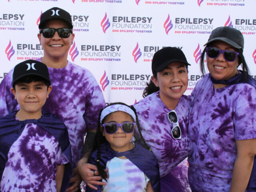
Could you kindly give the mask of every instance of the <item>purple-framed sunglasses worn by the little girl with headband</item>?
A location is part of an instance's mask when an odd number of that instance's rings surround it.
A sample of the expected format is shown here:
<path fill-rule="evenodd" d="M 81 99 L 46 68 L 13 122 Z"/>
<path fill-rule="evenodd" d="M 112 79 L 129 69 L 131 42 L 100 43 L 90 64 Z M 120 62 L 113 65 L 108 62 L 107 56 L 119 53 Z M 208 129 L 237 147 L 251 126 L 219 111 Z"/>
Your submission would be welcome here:
<path fill-rule="evenodd" d="M 134 122 L 124 122 L 124 123 L 106 123 L 102 124 L 104 130 L 107 134 L 114 134 L 117 132 L 118 127 L 120 126 L 123 132 L 125 133 L 132 133 L 136 126 Z"/>

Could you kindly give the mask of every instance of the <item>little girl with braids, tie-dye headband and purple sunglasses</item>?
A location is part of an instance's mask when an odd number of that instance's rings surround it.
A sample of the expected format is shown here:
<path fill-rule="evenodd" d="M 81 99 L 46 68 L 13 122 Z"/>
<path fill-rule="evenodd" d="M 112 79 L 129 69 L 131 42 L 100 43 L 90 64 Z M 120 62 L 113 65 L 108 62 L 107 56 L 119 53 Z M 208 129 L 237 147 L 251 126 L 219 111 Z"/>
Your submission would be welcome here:
<path fill-rule="evenodd" d="M 143 144 L 134 141 L 137 128 Z M 156 157 L 142 137 L 134 107 L 113 103 L 100 111 L 93 150 L 88 163 L 97 166 L 93 174 L 106 185 L 87 186 L 86 192 L 160 192 Z"/>

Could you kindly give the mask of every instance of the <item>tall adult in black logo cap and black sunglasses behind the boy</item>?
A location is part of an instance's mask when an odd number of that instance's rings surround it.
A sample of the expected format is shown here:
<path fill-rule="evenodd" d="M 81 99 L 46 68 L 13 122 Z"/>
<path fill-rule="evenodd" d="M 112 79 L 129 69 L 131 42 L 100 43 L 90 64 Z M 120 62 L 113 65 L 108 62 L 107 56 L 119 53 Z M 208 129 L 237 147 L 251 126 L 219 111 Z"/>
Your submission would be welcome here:
<path fill-rule="evenodd" d="M 106 106 L 100 86 L 92 73 L 67 60 L 75 36 L 72 28 L 70 14 L 53 7 L 42 13 L 38 34 L 44 50 L 44 56 L 38 61 L 48 67 L 53 87 L 43 109 L 64 122 L 70 138 L 74 175 L 70 181 L 74 184 L 68 188 L 69 192 L 77 191 L 82 181 L 75 168 L 82 158 L 84 136 L 86 143 L 90 144 L 98 125 L 100 109 Z M 9 91 L 11 84 L 12 70 L 0 84 L 0 116 L 19 108 Z"/>

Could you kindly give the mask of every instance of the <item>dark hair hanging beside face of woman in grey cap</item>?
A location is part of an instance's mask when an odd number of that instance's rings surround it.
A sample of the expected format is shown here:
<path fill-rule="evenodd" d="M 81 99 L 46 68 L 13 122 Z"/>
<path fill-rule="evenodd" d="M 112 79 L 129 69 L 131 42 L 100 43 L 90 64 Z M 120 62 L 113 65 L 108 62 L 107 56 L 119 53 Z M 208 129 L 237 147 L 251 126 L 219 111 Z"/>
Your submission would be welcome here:
<path fill-rule="evenodd" d="M 211 46 L 211 44 L 208 44 L 206 47 L 210 47 L 210 46 Z M 204 69 L 204 56 L 206 54 L 206 47 L 204 48 L 204 50 L 202 52 L 202 55 L 201 55 L 201 58 L 200 58 L 200 70 L 201 70 L 201 73 L 202 73 L 203 76 L 206 74 L 206 71 Z M 250 70 L 248 68 L 248 65 L 245 62 L 244 55 L 243 55 L 243 50 L 242 49 L 236 49 L 236 48 L 234 48 L 234 50 L 239 53 L 239 55 L 238 55 L 238 66 L 240 64 L 242 64 L 242 72 L 243 72 L 242 74 L 243 74 L 244 78 L 247 79 L 250 76 Z"/>

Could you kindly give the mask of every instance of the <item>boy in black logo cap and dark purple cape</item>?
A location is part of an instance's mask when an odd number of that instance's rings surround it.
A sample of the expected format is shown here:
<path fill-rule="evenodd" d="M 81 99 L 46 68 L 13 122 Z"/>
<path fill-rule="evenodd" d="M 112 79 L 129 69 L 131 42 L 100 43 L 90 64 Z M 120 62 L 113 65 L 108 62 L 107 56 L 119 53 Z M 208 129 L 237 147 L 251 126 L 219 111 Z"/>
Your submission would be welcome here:
<path fill-rule="evenodd" d="M 11 91 L 20 110 L 0 118 L 0 191 L 64 192 L 72 175 L 68 130 L 42 111 L 52 86 L 42 62 L 26 60 L 13 71 Z"/>

